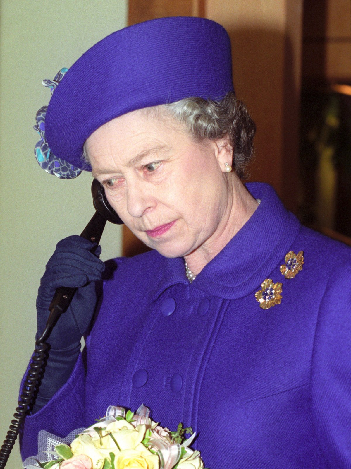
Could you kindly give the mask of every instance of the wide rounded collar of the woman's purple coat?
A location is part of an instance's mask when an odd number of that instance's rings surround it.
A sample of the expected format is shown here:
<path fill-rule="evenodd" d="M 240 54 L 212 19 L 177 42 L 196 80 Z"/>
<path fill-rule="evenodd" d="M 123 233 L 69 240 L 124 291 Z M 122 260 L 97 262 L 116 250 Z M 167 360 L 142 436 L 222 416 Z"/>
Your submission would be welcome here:
<path fill-rule="evenodd" d="M 261 199 L 261 204 L 224 249 L 196 276 L 191 287 L 221 298 L 241 298 L 259 289 L 276 265 L 284 261 L 299 234 L 298 219 L 284 208 L 268 184 L 247 183 L 246 189 L 254 198 Z M 177 283 L 186 285 L 188 280 L 182 257 L 171 259 L 154 254 L 159 270 L 150 294 L 155 300 L 168 287 Z"/>

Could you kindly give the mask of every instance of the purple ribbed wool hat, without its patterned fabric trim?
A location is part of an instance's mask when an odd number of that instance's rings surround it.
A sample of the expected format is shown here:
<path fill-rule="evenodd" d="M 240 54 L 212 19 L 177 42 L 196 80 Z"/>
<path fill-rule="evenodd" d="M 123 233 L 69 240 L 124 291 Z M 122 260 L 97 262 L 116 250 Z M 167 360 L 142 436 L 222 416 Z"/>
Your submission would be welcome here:
<path fill-rule="evenodd" d="M 233 91 L 230 39 L 223 26 L 167 17 L 116 31 L 80 57 L 52 94 L 45 117 L 51 151 L 90 170 L 83 144 L 122 114 L 183 98 Z"/>

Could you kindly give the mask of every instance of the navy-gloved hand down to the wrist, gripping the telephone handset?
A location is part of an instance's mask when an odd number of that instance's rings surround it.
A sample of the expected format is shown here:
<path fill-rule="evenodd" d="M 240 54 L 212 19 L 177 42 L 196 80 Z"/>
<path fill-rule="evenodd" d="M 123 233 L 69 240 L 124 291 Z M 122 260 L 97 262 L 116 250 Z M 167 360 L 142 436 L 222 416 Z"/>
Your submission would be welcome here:
<path fill-rule="evenodd" d="M 101 279 L 105 264 L 99 259 L 101 248 L 78 235 L 60 241 L 40 280 L 37 296 L 37 338 L 43 333 L 49 306 L 58 287 L 78 287 L 67 311 L 62 313 L 47 342 L 62 350 L 80 343 L 92 319 L 97 295 L 95 281 Z"/>

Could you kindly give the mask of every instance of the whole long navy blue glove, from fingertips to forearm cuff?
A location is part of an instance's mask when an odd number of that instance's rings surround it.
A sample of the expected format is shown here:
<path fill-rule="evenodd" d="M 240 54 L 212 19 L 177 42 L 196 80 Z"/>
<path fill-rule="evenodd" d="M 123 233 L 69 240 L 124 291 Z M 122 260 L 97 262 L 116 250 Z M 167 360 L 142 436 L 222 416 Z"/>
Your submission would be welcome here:
<path fill-rule="evenodd" d="M 101 279 L 105 264 L 99 259 L 100 246 L 81 236 L 73 235 L 60 241 L 40 280 L 37 296 L 37 339 L 43 333 L 49 306 L 58 287 L 77 287 L 66 312 L 62 313 L 46 342 L 50 345 L 33 413 L 65 384 L 81 349 L 81 339 L 87 331 L 97 303 L 95 282 Z"/>

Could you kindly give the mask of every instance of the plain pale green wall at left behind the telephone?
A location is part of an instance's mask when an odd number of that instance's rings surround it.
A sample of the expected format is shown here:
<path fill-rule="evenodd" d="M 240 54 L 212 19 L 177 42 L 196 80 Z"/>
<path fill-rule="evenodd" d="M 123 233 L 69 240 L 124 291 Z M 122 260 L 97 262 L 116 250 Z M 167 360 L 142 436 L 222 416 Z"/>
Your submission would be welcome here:
<path fill-rule="evenodd" d="M 93 214 L 91 175 L 62 181 L 34 158 L 41 84 L 127 23 L 127 0 L 0 1 L 0 440 L 34 348 L 35 299 L 56 242 L 79 234 Z M 120 229 L 107 226 L 102 258 L 120 253 Z M 18 443 L 8 468 L 20 468 Z"/>

